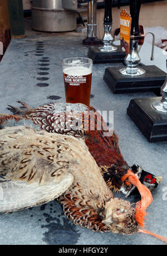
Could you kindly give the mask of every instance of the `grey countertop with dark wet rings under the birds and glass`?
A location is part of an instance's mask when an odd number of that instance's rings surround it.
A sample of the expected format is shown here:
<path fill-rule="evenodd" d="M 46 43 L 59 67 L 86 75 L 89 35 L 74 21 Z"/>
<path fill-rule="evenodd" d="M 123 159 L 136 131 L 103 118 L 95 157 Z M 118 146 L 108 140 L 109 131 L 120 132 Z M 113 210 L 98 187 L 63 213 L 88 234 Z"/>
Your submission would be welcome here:
<path fill-rule="evenodd" d="M 26 38 L 13 39 L 0 63 L 0 112 L 9 113 L 7 104 L 19 106 L 17 100 L 27 102 L 31 107 L 65 102 L 61 61 L 70 56 L 87 56 L 88 48 L 82 45 L 84 37 L 75 32 L 54 34 L 32 31 L 28 20 Z M 37 50 L 38 41 L 44 42 L 43 49 Z M 113 94 L 103 75 L 106 67 L 117 65 L 122 64 L 94 65 L 91 106 L 100 111 L 114 111 L 114 129 L 119 135 L 120 149 L 127 163 L 139 164 L 148 172 L 163 177 L 153 193 L 153 203 L 148 207 L 146 229 L 167 237 L 167 145 L 150 144 L 126 114 L 132 98 L 155 97 L 155 94 Z M 117 196 L 124 198 L 121 193 Z M 132 196 L 127 200 L 133 202 Z M 0 226 L 0 244 L 165 244 L 141 233 L 131 236 L 92 233 L 69 221 L 57 201 L 12 214 L 1 214 Z"/>

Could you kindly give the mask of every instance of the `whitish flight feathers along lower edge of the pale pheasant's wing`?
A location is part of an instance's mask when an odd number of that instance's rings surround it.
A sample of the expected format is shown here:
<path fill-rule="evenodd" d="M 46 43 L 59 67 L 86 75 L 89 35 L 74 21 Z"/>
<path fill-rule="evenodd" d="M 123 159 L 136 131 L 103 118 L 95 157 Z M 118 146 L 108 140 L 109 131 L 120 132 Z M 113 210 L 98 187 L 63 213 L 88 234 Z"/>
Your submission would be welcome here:
<path fill-rule="evenodd" d="M 68 173 L 60 182 L 39 186 L 38 182 L 4 180 L 0 182 L 0 212 L 12 212 L 23 208 L 42 205 L 60 196 L 71 186 L 73 176 Z"/>

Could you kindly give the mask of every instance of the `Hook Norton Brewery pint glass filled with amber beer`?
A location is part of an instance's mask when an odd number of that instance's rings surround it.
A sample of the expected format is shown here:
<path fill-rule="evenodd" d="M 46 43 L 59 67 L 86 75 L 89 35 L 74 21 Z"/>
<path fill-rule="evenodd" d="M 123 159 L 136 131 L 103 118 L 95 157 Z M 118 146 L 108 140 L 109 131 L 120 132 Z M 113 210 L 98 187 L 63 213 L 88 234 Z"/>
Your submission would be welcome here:
<path fill-rule="evenodd" d="M 92 60 L 67 58 L 62 61 L 66 102 L 90 105 Z"/>

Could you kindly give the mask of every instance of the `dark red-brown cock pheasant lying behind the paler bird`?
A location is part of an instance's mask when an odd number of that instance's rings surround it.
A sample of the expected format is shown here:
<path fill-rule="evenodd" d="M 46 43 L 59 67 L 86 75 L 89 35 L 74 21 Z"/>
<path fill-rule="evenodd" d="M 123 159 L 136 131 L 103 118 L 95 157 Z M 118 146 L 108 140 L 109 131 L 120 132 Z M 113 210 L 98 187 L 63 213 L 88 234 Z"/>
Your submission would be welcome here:
<path fill-rule="evenodd" d="M 104 136 L 107 132 L 102 116 L 93 107 L 81 103 L 50 103 L 31 109 L 26 103 L 18 101 L 27 108 L 22 111 L 9 106 L 15 114 L 23 112 L 23 118 L 32 120 L 40 129 L 48 132 L 73 135 L 76 138 L 84 137 L 90 153 L 100 167 L 107 185 L 114 191 L 122 191 L 126 197 L 131 193 L 139 195 L 138 189 L 131 183 L 123 182 L 127 170 L 132 170 L 140 181 L 153 191 L 161 181 L 161 177 L 145 172 L 140 166 L 129 167 L 121 155 L 118 137 L 115 132 L 112 136 Z M 101 130 L 99 130 L 101 129 Z"/>

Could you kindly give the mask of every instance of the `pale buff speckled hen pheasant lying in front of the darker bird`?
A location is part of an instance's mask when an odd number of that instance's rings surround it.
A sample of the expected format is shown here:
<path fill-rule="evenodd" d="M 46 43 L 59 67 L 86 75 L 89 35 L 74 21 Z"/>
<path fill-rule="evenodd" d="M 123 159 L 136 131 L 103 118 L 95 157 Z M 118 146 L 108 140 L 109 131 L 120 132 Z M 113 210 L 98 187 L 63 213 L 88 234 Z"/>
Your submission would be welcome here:
<path fill-rule="evenodd" d="M 68 219 L 94 231 L 134 234 L 152 196 L 132 207 L 115 198 L 83 139 L 16 126 L 0 130 L 0 211 L 36 206 L 58 197 Z M 142 216 L 141 216 L 142 215 Z"/>

